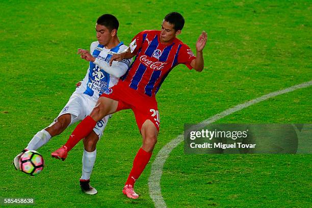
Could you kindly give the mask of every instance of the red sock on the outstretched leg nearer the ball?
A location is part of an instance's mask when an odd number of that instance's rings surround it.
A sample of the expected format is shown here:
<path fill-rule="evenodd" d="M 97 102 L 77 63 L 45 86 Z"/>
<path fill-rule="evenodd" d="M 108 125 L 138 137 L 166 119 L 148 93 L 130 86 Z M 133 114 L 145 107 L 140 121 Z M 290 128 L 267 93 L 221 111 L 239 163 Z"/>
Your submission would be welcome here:
<path fill-rule="evenodd" d="M 96 124 L 96 121 L 93 120 L 91 116 L 87 116 L 80 124 L 78 124 L 74 131 L 69 136 L 69 139 L 67 140 L 66 144 L 64 146 L 67 147 L 67 151 L 70 151 L 80 140 L 88 136 L 94 126 Z"/>

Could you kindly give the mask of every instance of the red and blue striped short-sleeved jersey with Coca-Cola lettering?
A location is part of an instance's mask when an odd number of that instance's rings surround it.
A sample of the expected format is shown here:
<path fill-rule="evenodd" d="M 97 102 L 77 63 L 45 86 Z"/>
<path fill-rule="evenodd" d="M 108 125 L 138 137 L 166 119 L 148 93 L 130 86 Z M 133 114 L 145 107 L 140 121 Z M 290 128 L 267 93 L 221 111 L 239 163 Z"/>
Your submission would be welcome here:
<path fill-rule="evenodd" d="M 169 45 L 160 42 L 160 31 L 142 31 L 130 45 L 136 59 L 121 77 L 124 84 L 141 94 L 154 97 L 173 67 L 185 64 L 192 69 L 196 57 L 190 47 L 177 38 Z"/>

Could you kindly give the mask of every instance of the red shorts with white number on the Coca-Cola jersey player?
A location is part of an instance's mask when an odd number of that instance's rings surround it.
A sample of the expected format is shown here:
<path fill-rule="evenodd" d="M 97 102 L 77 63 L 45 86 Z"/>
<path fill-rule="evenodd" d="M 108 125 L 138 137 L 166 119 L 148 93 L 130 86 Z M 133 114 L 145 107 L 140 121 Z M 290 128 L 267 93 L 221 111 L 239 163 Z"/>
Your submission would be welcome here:
<path fill-rule="evenodd" d="M 118 101 L 117 111 L 132 109 L 135 114 L 139 131 L 146 120 L 150 120 L 159 131 L 160 118 L 155 97 L 139 94 L 125 82 L 119 81 L 117 85 L 108 89 L 101 97 L 108 97 Z"/>

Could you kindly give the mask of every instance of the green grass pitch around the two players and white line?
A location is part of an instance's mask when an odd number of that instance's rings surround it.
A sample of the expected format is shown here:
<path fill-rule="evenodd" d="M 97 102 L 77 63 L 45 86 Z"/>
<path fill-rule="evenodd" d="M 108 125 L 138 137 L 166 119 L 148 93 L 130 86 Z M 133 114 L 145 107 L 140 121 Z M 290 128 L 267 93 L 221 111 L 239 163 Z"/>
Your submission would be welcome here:
<path fill-rule="evenodd" d="M 4 1 L 0 4 L 0 197 L 35 198 L 38 207 L 153 207 L 148 177 L 159 150 L 198 123 L 273 91 L 312 80 L 310 1 Z M 88 64 L 77 48 L 95 41 L 103 13 L 120 22 L 125 44 L 142 30 L 160 29 L 164 16 L 186 19 L 178 37 L 195 51 L 208 33 L 203 72 L 176 67 L 158 93 L 161 131 L 150 163 L 136 183 L 138 200 L 121 189 L 141 145 L 131 111 L 116 113 L 97 145 L 87 196 L 79 187 L 83 145 L 66 161 L 50 158 L 74 126 L 38 151 L 46 166 L 29 177 L 10 164 L 33 135 L 65 106 Z M 312 123 L 311 87 L 259 102 L 218 123 Z M 311 207 L 310 154 L 184 154 L 165 163 L 162 195 L 168 207 Z M 20 205 L 18 205 L 20 207 Z"/>

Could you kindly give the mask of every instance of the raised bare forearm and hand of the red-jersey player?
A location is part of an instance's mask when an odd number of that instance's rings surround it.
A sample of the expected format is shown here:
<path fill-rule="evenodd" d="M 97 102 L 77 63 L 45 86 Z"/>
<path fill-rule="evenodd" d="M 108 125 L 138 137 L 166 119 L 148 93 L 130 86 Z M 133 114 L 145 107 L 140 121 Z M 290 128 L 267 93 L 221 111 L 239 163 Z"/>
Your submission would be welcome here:
<path fill-rule="evenodd" d="M 203 61 L 203 56 L 202 56 L 202 50 L 205 47 L 206 42 L 207 42 L 207 33 L 203 31 L 198 37 L 198 40 L 196 42 L 196 59 L 194 59 L 191 62 L 191 66 L 196 71 L 203 70 L 204 61 Z"/>

